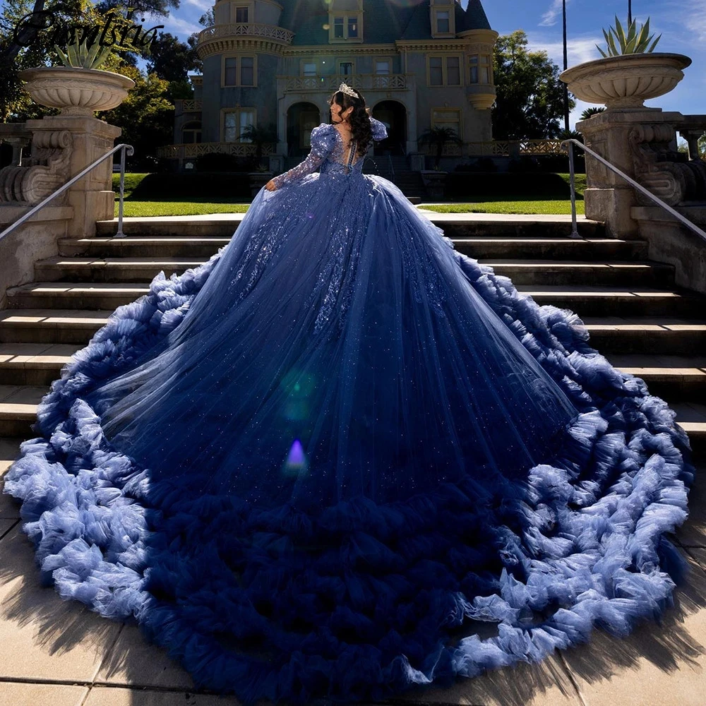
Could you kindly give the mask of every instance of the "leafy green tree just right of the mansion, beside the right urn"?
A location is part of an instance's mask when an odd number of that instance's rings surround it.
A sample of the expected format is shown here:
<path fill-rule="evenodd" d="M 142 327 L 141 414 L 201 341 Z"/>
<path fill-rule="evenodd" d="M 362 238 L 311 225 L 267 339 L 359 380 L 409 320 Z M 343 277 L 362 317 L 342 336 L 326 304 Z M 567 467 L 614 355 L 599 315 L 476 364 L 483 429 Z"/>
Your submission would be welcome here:
<path fill-rule="evenodd" d="M 497 97 L 492 112 L 496 140 L 554 138 L 561 131 L 561 71 L 546 52 L 530 52 L 527 44 L 522 30 L 498 37 L 496 43 Z M 575 105 L 570 97 L 569 108 Z"/>

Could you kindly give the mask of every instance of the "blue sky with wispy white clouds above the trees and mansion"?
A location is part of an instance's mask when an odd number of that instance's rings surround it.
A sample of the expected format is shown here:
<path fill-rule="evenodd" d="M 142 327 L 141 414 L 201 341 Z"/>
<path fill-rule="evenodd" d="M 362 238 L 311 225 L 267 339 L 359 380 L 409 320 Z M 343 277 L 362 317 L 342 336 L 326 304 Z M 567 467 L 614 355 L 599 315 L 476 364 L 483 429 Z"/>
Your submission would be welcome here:
<path fill-rule="evenodd" d="M 525 30 L 532 49 L 545 49 L 562 66 L 561 0 L 482 1 L 493 29 L 501 34 Z M 203 29 L 198 18 L 212 5 L 210 0 L 181 0 L 179 10 L 153 24 L 164 24 L 164 31 L 186 40 L 191 32 Z M 595 45 L 604 44 L 602 28 L 613 24 L 616 14 L 626 21 L 628 0 L 568 0 L 567 14 L 569 66 L 573 66 L 600 58 Z M 706 114 L 706 0 L 633 0 L 633 15 L 638 23 L 650 17 L 652 30 L 662 34 L 659 51 L 693 59 L 674 91 L 647 104 L 684 114 Z M 585 107 L 578 104 L 572 124 Z"/>

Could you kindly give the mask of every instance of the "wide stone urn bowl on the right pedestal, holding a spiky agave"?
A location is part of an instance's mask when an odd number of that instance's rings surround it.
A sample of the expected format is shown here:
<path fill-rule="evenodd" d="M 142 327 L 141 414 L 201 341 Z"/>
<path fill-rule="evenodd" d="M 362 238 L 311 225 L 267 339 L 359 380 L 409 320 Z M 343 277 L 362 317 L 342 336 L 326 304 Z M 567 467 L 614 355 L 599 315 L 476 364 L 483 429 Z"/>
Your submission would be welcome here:
<path fill-rule="evenodd" d="M 610 109 L 640 109 L 645 101 L 674 90 L 691 59 L 683 54 L 623 54 L 572 66 L 559 78 L 587 103 Z"/>

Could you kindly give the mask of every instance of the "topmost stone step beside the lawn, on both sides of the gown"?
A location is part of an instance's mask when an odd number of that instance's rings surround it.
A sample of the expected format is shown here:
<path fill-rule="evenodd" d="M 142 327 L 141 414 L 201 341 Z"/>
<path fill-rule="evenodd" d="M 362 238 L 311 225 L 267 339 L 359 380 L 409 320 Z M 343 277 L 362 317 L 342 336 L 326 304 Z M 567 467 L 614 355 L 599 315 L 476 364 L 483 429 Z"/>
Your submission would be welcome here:
<path fill-rule="evenodd" d="M 566 238 L 571 221 L 566 216 L 507 216 L 505 214 L 421 212 L 450 238 L 515 237 Z M 123 222 L 123 232 L 138 237 L 232 237 L 244 213 L 189 217 L 131 217 Z M 97 221 L 97 237 L 111 237 L 118 230 L 117 220 Z M 580 217 L 578 232 L 585 238 L 604 238 L 605 227 L 598 221 Z"/>

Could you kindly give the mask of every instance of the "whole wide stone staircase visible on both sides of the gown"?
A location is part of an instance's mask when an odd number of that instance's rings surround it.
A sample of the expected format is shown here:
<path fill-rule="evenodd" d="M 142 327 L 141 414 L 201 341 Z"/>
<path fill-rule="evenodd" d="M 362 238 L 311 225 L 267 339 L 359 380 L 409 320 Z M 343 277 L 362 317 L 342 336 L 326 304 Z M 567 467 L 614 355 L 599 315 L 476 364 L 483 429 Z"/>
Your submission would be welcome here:
<path fill-rule="evenodd" d="M 493 265 L 539 304 L 578 313 L 594 347 L 664 397 L 706 455 L 706 297 L 679 290 L 669 265 L 647 261 L 647 246 L 606 238 L 580 222 L 469 221 L 429 214 L 461 252 Z M 0 311 L 0 437 L 29 438 L 37 402 L 61 366 L 120 304 L 148 291 L 160 270 L 182 273 L 229 241 L 232 220 L 100 222 L 95 238 L 60 241 L 60 255 L 37 262 L 36 281 L 8 290 Z"/>

